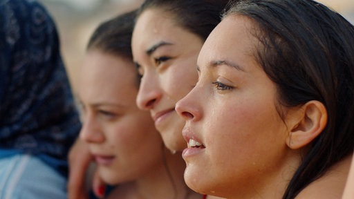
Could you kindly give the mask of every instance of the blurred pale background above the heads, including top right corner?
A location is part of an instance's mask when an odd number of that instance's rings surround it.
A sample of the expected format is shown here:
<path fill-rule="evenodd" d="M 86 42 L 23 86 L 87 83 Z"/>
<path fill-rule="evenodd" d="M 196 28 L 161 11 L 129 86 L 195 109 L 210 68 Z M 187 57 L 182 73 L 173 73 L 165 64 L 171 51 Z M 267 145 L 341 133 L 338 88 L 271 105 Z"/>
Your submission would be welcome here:
<path fill-rule="evenodd" d="M 77 91 L 79 66 L 82 64 L 86 43 L 93 30 L 100 22 L 137 8 L 142 1 L 39 0 L 46 6 L 57 24 L 62 45 L 62 56 L 74 93 Z M 354 24 L 354 0 L 319 0 L 319 2 L 337 10 Z"/>

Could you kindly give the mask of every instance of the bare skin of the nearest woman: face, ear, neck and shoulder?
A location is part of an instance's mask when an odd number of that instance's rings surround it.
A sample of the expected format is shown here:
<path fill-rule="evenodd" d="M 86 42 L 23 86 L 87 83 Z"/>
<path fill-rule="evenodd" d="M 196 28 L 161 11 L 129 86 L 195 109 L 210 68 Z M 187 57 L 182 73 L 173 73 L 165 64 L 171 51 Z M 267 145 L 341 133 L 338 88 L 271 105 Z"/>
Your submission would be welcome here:
<path fill-rule="evenodd" d="M 301 154 L 326 126 L 321 102 L 279 104 L 276 85 L 253 56 L 259 42 L 250 34 L 253 24 L 230 15 L 216 26 L 198 57 L 198 83 L 176 105 L 187 121 L 185 181 L 194 191 L 282 198 Z M 339 198 L 350 162 L 348 157 L 334 164 L 297 198 Z"/>

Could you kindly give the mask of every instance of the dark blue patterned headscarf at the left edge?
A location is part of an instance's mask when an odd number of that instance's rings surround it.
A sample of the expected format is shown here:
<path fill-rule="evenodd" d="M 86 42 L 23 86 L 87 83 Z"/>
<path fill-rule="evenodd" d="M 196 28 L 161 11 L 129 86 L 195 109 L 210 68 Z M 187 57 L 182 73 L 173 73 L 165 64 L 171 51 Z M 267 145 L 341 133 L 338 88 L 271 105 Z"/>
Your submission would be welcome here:
<path fill-rule="evenodd" d="M 80 128 L 53 20 L 36 1 L 0 0 L 0 149 L 66 160 Z"/>

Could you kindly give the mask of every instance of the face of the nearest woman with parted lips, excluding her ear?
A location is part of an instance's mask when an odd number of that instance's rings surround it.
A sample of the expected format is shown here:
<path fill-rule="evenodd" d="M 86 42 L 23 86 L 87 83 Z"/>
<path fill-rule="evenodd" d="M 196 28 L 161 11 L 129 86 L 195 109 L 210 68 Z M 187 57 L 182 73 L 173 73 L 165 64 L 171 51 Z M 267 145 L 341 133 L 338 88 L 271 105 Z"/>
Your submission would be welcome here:
<path fill-rule="evenodd" d="M 283 177 L 291 157 L 276 85 L 254 59 L 252 26 L 232 15 L 213 30 L 198 57 L 198 83 L 176 105 L 187 121 L 185 181 L 200 193 L 253 198 Z"/>

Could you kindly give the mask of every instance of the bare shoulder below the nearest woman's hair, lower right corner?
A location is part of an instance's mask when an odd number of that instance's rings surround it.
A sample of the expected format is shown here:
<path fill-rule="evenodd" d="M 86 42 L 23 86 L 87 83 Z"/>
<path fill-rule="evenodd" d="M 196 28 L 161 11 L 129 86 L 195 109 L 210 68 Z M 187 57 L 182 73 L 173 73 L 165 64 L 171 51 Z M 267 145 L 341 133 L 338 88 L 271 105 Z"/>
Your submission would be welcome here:
<path fill-rule="evenodd" d="M 296 199 L 337 199 L 342 198 L 342 193 L 346 185 L 351 158 L 348 156 L 344 160 L 333 165 L 324 176 L 311 183 L 299 193 Z"/>

